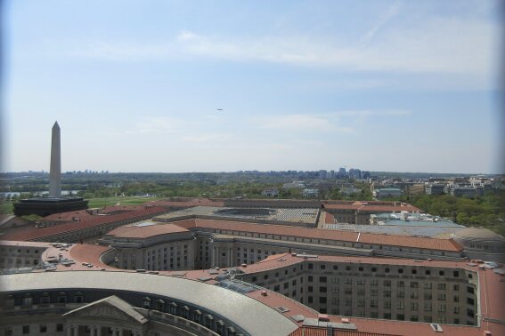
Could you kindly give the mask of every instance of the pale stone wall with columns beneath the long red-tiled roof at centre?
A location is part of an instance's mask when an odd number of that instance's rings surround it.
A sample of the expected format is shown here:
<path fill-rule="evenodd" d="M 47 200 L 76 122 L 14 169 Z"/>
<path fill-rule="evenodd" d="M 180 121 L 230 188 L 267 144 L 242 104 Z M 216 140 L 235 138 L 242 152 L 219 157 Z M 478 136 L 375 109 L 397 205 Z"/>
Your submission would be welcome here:
<path fill-rule="evenodd" d="M 175 270 L 239 266 L 282 252 L 323 255 L 385 256 L 411 259 L 461 260 L 461 252 L 444 252 L 393 245 L 342 242 L 288 235 L 198 228 L 193 232 L 153 238 L 108 237 L 126 269 Z M 126 240 L 128 242 L 126 242 Z M 179 260 L 177 260 L 179 258 Z"/>

